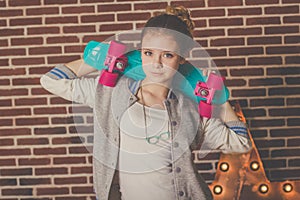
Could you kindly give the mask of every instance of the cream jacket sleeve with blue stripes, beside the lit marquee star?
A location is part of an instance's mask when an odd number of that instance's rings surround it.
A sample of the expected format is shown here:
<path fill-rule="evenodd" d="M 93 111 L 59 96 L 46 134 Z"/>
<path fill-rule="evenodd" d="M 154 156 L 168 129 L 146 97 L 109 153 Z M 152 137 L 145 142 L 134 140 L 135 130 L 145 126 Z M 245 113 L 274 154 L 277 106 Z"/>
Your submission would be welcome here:
<path fill-rule="evenodd" d="M 211 118 L 202 121 L 203 140 L 201 149 L 219 149 L 224 153 L 245 153 L 252 148 L 247 127 L 243 122 L 224 123 Z"/>

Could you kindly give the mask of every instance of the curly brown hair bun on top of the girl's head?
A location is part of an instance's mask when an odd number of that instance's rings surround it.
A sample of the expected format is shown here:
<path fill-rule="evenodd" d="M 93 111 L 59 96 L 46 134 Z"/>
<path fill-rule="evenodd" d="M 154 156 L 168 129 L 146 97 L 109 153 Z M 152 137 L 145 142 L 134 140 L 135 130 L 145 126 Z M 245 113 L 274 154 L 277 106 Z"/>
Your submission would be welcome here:
<path fill-rule="evenodd" d="M 165 12 L 161 14 L 175 15 L 181 19 L 187 26 L 190 33 L 193 32 L 195 24 L 190 16 L 190 11 L 184 6 L 167 6 Z"/>

